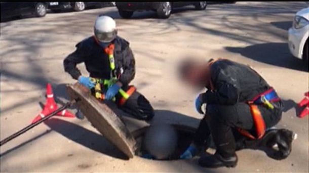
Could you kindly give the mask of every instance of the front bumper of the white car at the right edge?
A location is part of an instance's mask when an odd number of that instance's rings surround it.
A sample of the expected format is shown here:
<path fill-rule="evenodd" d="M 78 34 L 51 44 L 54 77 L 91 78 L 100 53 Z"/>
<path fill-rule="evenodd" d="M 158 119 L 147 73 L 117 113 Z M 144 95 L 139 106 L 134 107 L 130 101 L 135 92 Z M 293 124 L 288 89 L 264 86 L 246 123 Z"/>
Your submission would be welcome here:
<path fill-rule="evenodd" d="M 302 59 L 302 51 L 303 51 L 303 38 L 308 32 L 308 25 L 302 27 L 300 29 L 295 29 L 291 27 L 289 29 L 289 50 L 294 57 Z"/>

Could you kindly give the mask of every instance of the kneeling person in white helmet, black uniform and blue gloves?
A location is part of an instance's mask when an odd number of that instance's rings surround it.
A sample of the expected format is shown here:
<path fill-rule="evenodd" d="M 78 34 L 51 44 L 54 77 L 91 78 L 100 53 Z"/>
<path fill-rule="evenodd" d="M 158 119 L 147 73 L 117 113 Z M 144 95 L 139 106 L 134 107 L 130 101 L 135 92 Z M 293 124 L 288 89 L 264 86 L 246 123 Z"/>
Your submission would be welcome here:
<path fill-rule="evenodd" d="M 85 63 L 90 77 L 83 76 L 76 65 Z M 99 16 L 94 35 L 76 45 L 64 61 L 64 70 L 91 89 L 100 100 L 113 100 L 119 108 L 137 119 L 154 116 L 148 100 L 129 85 L 135 76 L 135 60 L 129 42 L 117 35 L 115 21 Z"/>

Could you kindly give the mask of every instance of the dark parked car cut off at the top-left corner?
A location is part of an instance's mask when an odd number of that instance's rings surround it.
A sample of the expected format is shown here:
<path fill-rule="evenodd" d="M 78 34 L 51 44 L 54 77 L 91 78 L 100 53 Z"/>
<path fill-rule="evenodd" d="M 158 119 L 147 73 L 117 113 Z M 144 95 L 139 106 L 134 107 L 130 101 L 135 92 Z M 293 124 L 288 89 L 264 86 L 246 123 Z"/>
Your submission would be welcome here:
<path fill-rule="evenodd" d="M 47 11 L 45 2 L 0 2 L 1 21 L 11 17 L 35 15 L 44 17 Z"/>

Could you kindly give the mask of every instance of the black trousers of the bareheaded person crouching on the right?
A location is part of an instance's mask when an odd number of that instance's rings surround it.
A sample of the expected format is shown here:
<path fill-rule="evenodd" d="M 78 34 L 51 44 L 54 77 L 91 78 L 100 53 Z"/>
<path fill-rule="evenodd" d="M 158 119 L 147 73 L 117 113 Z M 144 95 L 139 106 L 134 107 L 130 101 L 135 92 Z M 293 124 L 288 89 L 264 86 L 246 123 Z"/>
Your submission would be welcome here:
<path fill-rule="evenodd" d="M 283 104 L 281 102 L 273 103 L 275 109 L 271 110 L 264 106 L 258 106 L 266 128 L 276 125 L 282 115 Z M 205 141 L 212 135 L 217 152 L 223 157 L 235 155 L 237 128 L 246 129 L 254 133 L 255 127 L 250 112 L 250 107 L 246 103 L 237 103 L 235 105 L 207 105 L 204 118 L 195 134 L 194 143 L 198 146 L 204 145 Z"/>

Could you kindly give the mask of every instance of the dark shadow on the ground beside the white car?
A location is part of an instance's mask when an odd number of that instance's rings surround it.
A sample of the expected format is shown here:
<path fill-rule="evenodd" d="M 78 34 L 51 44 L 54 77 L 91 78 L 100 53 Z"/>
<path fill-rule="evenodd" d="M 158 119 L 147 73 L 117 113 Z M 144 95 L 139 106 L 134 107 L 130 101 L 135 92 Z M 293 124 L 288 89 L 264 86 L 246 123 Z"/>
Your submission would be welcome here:
<path fill-rule="evenodd" d="M 302 60 L 294 58 L 288 48 L 288 44 L 282 42 L 268 42 L 242 47 L 225 47 L 229 52 L 239 53 L 252 60 L 269 65 L 285 67 L 293 70 L 308 71 Z"/>

